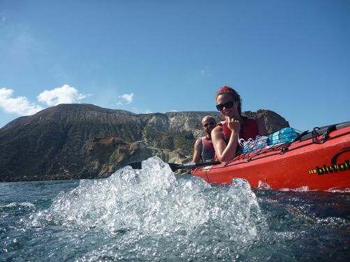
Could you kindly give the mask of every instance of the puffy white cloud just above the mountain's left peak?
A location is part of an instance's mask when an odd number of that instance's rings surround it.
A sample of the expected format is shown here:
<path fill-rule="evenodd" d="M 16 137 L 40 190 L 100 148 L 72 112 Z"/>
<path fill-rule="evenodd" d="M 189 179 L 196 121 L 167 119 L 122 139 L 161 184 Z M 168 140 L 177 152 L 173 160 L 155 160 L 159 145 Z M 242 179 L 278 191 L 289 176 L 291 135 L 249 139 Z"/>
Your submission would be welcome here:
<path fill-rule="evenodd" d="M 78 90 L 69 85 L 63 85 L 61 88 L 41 92 L 38 95 L 38 101 L 47 104 L 47 106 L 56 106 L 58 104 L 74 104 L 88 96 L 79 94 Z"/>

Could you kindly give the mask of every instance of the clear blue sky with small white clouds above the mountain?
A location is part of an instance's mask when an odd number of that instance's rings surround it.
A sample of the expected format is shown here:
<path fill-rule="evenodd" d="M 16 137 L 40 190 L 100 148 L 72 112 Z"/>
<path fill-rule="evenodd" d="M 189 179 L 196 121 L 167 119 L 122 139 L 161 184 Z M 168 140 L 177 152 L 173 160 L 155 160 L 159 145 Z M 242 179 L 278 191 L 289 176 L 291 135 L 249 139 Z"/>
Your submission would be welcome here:
<path fill-rule="evenodd" d="M 0 0 L 0 127 L 60 103 L 349 121 L 350 1 Z"/>

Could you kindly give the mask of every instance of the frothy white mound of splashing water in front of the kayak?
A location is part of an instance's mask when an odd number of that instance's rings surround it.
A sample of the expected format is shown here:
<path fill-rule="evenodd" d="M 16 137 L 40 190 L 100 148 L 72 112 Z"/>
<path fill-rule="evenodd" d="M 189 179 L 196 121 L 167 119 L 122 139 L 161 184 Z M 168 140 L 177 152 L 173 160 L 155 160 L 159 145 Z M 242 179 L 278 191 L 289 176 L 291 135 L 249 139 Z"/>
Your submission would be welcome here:
<path fill-rule="evenodd" d="M 110 234 L 211 234 L 240 243 L 254 240 L 263 220 L 244 179 L 234 179 L 227 188 L 213 188 L 198 177 L 176 180 L 158 157 L 144 161 L 142 170 L 127 166 L 107 179 L 81 181 L 54 199 L 50 215 L 67 227 L 98 227 Z"/>

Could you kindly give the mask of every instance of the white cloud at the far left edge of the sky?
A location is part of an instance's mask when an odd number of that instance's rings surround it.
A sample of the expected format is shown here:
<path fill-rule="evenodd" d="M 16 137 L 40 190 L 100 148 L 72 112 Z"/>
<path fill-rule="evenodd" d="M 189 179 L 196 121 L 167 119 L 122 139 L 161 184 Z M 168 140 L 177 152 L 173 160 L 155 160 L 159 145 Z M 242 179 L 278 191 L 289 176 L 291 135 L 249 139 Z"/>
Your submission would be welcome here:
<path fill-rule="evenodd" d="M 7 113 L 33 115 L 43 110 L 41 106 L 29 102 L 26 97 L 13 98 L 12 96 L 12 89 L 0 88 L 0 108 L 3 108 Z"/>

